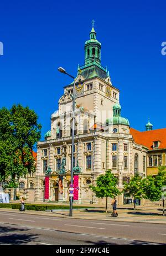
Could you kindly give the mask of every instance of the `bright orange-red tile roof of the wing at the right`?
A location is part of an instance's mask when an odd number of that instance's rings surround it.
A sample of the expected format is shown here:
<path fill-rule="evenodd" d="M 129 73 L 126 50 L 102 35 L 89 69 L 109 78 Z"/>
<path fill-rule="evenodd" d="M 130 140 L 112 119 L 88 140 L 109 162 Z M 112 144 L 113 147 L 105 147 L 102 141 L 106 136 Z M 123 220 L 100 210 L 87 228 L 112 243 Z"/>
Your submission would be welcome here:
<path fill-rule="evenodd" d="M 160 141 L 158 148 L 166 148 L 166 128 L 148 130 L 145 132 L 139 132 L 136 129 L 130 128 L 129 133 L 132 134 L 136 143 L 145 145 L 150 150 L 153 149 L 154 141 Z"/>

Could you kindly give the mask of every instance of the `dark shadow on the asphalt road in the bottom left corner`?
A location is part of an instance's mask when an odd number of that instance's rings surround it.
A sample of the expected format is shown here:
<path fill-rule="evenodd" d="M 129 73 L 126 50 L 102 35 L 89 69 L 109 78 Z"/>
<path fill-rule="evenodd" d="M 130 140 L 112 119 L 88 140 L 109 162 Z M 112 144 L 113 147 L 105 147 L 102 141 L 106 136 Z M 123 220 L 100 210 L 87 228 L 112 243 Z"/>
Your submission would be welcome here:
<path fill-rule="evenodd" d="M 0 244 L 26 244 L 33 242 L 37 238 L 37 234 L 25 234 L 19 232 L 25 232 L 29 229 L 26 228 L 11 228 L 0 227 Z M 13 233 L 14 232 L 14 233 Z"/>

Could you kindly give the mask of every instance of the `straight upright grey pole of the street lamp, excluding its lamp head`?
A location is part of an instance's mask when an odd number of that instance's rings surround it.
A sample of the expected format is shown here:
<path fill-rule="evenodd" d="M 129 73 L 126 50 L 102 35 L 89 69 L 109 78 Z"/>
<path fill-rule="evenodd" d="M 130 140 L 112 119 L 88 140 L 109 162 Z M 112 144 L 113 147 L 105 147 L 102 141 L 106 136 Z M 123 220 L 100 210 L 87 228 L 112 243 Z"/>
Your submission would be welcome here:
<path fill-rule="evenodd" d="M 74 129 L 75 129 L 75 79 L 74 79 L 73 102 L 72 102 L 71 184 L 73 184 Z M 70 197 L 70 216 L 72 216 L 72 202 L 73 202 L 73 198 Z"/>

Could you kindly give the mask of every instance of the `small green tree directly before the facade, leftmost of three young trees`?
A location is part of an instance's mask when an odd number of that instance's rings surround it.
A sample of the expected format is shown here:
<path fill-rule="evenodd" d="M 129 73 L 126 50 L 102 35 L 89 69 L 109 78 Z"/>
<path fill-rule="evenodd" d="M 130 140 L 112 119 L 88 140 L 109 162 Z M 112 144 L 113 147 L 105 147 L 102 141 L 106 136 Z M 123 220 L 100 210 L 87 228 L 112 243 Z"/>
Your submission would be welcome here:
<path fill-rule="evenodd" d="M 120 190 L 117 189 L 117 178 L 111 173 L 111 169 L 106 171 L 106 174 L 101 174 L 96 179 L 96 186 L 90 185 L 89 187 L 95 192 L 96 197 L 103 198 L 106 197 L 106 213 L 107 213 L 107 201 L 108 197 L 115 197 L 120 195 Z"/>

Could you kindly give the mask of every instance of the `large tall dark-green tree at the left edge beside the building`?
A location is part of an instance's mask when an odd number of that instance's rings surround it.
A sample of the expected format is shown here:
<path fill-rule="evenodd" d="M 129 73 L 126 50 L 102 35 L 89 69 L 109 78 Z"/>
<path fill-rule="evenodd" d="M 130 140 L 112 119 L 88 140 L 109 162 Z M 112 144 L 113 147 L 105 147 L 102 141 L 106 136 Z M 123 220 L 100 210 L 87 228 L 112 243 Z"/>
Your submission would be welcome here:
<path fill-rule="evenodd" d="M 37 120 L 33 110 L 20 104 L 0 109 L 0 181 L 15 182 L 34 172 L 33 148 L 42 128 Z"/>

